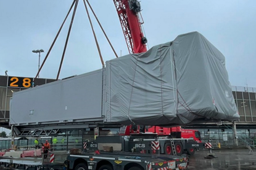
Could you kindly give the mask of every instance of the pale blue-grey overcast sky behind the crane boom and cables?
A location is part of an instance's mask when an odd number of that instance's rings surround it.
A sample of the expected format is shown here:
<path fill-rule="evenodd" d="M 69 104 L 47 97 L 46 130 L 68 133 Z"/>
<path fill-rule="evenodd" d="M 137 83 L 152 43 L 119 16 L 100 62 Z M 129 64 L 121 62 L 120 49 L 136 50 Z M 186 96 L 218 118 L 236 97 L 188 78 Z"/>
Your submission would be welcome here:
<path fill-rule="evenodd" d="M 128 54 L 125 38 L 112 0 L 91 0 L 118 55 Z M 67 15 L 72 0 L 0 1 L 0 75 L 35 77 L 38 54 L 49 47 Z M 141 0 L 144 31 L 149 47 L 173 41 L 179 34 L 198 31 L 226 57 L 231 85 L 256 87 L 255 0 Z M 93 18 L 93 15 L 91 15 Z M 56 79 L 70 17 L 52 48 L 40 77 Z M 115 58 L 93 18 L 104 61 Z M 46 56 L 41 53 L 41 62 Z M 60 79 L 101 68 L 83 1 L 73 22 Z"/>

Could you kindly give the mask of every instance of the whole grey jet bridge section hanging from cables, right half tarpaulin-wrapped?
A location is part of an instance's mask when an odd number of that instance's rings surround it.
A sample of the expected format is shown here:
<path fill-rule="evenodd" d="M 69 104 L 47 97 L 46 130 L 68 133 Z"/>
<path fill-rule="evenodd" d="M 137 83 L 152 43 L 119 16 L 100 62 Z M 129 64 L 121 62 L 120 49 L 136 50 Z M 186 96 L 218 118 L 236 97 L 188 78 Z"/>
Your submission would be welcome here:
<path fill-rule="evenodd" d="M 17 134 L 238 118 L 225 57 L 197 32 L 107 61 L 97 71 L 19 91 L 10 106 Z"/>

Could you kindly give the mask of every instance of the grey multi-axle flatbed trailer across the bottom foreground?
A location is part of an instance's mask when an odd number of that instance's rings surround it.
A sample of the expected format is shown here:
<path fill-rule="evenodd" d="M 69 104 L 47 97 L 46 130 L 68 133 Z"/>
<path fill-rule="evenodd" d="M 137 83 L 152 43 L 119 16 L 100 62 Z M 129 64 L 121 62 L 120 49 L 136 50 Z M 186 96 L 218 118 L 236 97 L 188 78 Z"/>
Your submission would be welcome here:
<path fill-rule="evenodd" d="M 88 148 L 81 154 L 70 154 L 64 163 L 44 163 L 22 158 L 0 158 L 1 167 L 39 170 L 39 169 L 73 169 L 73 170 L 172 170 L 187 169 L 187 155 L 159 155 L 128 152 L 93 152 L 96 142 L 88 142 Z M 51 153 L 52 154 L 52 153 Z"/>

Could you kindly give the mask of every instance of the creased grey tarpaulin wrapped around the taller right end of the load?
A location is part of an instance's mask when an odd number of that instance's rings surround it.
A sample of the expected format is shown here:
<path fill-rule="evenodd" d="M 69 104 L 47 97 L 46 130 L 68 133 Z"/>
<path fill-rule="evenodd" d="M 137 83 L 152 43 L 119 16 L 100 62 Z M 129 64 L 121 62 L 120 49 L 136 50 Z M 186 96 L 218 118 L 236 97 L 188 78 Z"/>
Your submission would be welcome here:
<path fill-rule="evenodd" d="M 124 125 L 237 120 L 225 57 L 200 33 L 107 61 L 106 116 Z"/>

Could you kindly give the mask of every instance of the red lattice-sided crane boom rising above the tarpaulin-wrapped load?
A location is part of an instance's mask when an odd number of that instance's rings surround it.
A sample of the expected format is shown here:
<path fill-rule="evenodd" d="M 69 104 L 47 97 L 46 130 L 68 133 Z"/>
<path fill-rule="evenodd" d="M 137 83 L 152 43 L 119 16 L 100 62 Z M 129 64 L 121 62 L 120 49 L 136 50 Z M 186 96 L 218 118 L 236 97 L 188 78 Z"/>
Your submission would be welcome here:
<path fill-rule="evenodd" d="M 129 53 L 146 52 L 147 39 L 141 29 L 138 13 L 141 6 L 138 0 L 113 0 L 123 28 Z"/>

